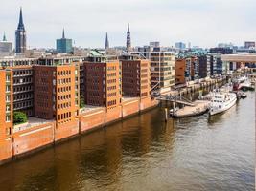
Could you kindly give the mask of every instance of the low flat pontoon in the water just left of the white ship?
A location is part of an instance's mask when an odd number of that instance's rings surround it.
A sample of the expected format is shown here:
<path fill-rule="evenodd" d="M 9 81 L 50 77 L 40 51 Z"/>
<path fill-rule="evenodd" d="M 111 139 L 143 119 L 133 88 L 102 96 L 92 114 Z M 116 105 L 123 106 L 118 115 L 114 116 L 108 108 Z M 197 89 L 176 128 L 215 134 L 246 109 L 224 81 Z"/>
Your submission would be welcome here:
<path fill-rule="evenodd" d="M 172 117 L 194 117 L 206 113 L 209 109 L 210 101 L 207 100 L 197 100 L 193 102 L 194 106 L 185 106 L 181 109 L 175 111 Z"/>

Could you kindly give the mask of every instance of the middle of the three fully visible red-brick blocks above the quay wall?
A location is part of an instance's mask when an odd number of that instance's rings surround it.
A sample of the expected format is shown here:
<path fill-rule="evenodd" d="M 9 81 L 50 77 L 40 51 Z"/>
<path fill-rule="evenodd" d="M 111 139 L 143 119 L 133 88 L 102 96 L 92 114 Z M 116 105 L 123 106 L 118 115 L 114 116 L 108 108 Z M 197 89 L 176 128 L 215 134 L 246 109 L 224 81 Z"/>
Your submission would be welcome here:
<path fill-rule="evenodd" d="M 85 104 L 111 109 L 121 104 L 121 66 L 116 56 L 88 57 L 84 62 Z"/>

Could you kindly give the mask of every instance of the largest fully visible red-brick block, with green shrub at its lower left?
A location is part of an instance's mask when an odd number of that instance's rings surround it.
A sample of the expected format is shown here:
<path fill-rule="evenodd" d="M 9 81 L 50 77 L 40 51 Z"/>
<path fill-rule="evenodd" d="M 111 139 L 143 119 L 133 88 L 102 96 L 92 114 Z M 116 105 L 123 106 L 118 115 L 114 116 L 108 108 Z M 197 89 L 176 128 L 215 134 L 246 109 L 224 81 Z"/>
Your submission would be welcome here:
<path fill-rule="evenodd" d="M 55 119 L 57 126 L 74 122 L 79 115 L 78 65 L 62 59 L 40 58 L 33 67 L 35 117 Z M 47 66 L 50 62 L 55 64 Z"/>

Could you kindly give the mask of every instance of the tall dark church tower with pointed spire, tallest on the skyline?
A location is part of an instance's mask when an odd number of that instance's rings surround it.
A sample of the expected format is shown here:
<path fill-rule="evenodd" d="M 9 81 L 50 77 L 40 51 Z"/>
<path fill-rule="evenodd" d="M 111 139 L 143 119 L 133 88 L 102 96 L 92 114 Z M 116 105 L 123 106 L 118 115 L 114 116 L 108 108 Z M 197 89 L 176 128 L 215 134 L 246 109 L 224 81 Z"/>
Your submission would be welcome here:
<path fill-rule="evenodd" d="M 18 22 L 18 27 L 15 32 L 15 42 L 16 42 L 16 47 L 15 47 L 15 52 L 16 53 L 25 53 L 26 51 L 26 46 L 27 46 L 27 37 L 26 37 L 26 30 L 25 26 L 23 24 L 23 16 L 22 16 L 22 9 L 20 8 L 19 12 L 19 22 Z"/>

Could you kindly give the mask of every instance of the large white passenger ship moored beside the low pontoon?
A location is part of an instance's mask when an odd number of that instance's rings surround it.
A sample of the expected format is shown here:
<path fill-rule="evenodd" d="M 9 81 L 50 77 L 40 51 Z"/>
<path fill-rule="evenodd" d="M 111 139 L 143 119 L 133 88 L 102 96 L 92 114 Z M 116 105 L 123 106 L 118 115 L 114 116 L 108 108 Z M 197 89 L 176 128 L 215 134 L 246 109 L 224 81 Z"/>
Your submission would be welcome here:
<path fill-rule="evenodd" d="M 210 103 L 210 116 L 219 114 L 230 109 L 236 104 L 237 96 L 235 93 L 216 92 L 212 96 Z"/>

